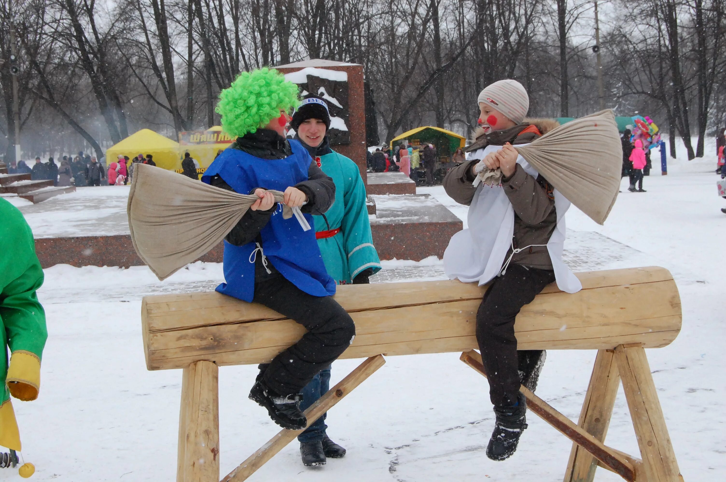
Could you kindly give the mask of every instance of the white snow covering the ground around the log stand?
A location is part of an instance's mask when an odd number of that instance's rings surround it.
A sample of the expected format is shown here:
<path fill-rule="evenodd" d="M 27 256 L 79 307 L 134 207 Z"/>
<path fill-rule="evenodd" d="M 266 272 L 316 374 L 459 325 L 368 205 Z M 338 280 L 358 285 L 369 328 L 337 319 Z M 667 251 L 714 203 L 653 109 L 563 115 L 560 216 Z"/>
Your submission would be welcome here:
<path fill-rule="evenodd" d="M 682 331 L 648 357 L 682 474 L 698 482 L 722 481 L 726 473 L 726 215 L 719 210 L 726 200 L 716 195 L 714 165 L 711 158 L 671 161 L 669 175 L 645 178 L 645 194 L 625 191 L 624 180 L 625 192 L 605 226 L 574 208 L 567 216 L 568 262 L 578 270 L 592 263 L 598 269 L 655 264 L 677 280 Z M 465 219 L 466 208 L 441 187 L 419 193 L 436 196 Z M 377 281 L 439 276 L 436 260 L 387 262 Z M 24 459 L 37 468 L 33 480 L 174 480 L 181 372 L 146 370 L 140 300 L 152 292 L 211 289 L 220 278 L 220 265 L 203 263 L 164 282 L 145 267 L 46 270 L 39 294 L 49 329 L 41 394 L 36 402 L 14 404 Z M 458 357 L 388 357 L 327 419 L 328 433 L 346 446 L 346 457 L 303 468 L 293 443 L 249 480 L 561 481 L 571 443 L 536 415 L 529 415 L 514 457 L 486 458 L 493 423 L 486 381 Z M 590 351 L 550 351 L 537 393 L 576 420 L 594 359 Z M 335 362 L 333 383 L 360 361 Z M 255 366 L 220 370 L 222 475 L 278 431 L 247 399 L 255 375 Z M 622 393 L 607 443 L 638 453 Z M 21 479 L 16 471 L 0 470 L 5 480 Z M 621 479 L 600 469 L 597 480 Z"/>

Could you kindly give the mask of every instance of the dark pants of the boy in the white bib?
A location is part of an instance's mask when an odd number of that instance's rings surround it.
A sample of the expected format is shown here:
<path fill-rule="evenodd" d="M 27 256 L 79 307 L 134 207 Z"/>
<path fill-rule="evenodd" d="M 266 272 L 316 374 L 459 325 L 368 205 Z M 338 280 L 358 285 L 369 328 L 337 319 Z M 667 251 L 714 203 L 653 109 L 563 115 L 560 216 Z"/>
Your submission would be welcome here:
<path fill-rule="evenodd" d="M 518 367 L 537 351 L 517 351 L 514 320 L 544 286 L 555 281 L 555 273 L 534 267 L 509 265 L 492 286 L 476 313 L 476 340 L 489 378 L 489 397 L 494 407 L 511 407 L 519 393 Z"/>

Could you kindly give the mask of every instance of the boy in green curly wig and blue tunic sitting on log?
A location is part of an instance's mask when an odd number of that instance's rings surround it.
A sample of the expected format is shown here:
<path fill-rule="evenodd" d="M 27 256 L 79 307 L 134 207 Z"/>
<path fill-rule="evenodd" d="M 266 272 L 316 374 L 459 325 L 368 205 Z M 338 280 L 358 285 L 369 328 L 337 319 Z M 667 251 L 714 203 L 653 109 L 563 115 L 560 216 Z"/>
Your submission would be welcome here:
<path fill-rule="evenodd" d="M 330 366 L 355 336 L 353 320 L 333 300 L 335 281 L 325 270 L 313 230 L 282 206 L 268 189 L 285 192 L 284 204 L 301 207 L 308 223 L 335 199 L 335 184 L 297 141 L 284 137 L 287 111 L 298 104 L 298 87 L 277 72 L 242 72 L 219 94 L 216 112 L 237 140 L 219 154 L 202 181 L 260 199 L 227 234 L 224 279 L 217 291 L 264 304 L 303 325 L 298 343 L 260 365 L 250 399 L 272 420 L 291 430 L 305 428 L 301 391 Z"/>

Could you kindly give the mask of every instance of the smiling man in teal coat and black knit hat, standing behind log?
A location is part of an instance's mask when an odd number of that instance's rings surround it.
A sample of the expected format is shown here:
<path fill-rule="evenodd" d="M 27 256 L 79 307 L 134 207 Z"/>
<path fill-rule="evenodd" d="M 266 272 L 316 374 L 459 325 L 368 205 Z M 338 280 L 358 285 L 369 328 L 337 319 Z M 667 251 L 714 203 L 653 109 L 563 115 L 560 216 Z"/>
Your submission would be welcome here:
<path fill-rule="evenodd" d="M 315 236 L 327 273 L 338 284 L 368 283 L 380 270 L 373 246 L 363 179 L 355 162 L 330 149 L 327 130 L 330 112 L 325 99 L 309 94 L 295 110 L 290 127 L 323 172 L 335 182 L 335 202 L 322 216 L 313 216 Z M 301 410 L 317 401 L 330 387 L 330 367 L 303 388 Z M 338 458 L 346 449 L 325 433 L 325 415 L 298 436 L 303 465 L 324 465 L 326 457 Z"/>

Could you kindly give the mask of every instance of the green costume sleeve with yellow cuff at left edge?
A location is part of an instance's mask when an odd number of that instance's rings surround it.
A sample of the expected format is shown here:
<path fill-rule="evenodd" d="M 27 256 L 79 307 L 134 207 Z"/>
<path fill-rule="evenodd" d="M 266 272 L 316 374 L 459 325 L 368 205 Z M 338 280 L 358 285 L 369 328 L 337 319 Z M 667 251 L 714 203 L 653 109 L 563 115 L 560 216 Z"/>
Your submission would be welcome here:
<path fill-rule="evenodd" d="M 40 388 L 40 362 L 48 333 L 45 312 L 36 290 L 43 284 L 43 270 L 36 256 L 30 226 L 20 211 L 0 199 L 0 323 L 3 346 L 12 357 L 3 357 L 4 393 L 34 400 Z M 8 394 L 9 390 L 9 394 Z"/>

